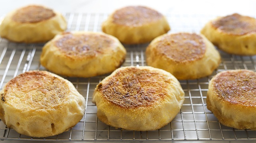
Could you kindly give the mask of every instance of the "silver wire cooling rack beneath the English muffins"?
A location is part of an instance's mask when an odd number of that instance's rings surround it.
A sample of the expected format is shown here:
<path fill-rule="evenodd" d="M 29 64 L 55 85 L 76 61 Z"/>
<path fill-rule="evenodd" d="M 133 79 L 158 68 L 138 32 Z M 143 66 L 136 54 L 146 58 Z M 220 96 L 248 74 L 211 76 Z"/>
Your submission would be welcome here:
<path fill-rule="evenodd" d="M 107 14 L 66 13 L 67 31 L 101 31 Z M 167 13 L 171 32 L 199 33 L 203 25 L 216 15 L 181 15 Z M 0 39 L 0 87 L 16 75 L 29 70 L 46 70 L 39 58 L 44 44 L 12 43 Z M 145 66 L 145 48 L 148 44 L 124 45 L 127 57 L 122 66 Z M 44 141 L 192 141 L 192 140 L 256 140 L 256 131 L 226 127 L 206 108 L 206 93 L 210 79 L 218 72 L 232 69 L 256 70 L 256 56 L 235 56 L 220 51 L 222 62 L 211 76 L 196 80 L 180 80 L 185 92 L 184 104 L 178 115 L 156 131 L 126 131 L 108 126 L 97 119 L 92 94 L 96 85 L 107 75 L 91 78 L 64 77 L 71 81 L 86 99 L 86 114 L 68 131 L 46 138 L 20 135 L 0 121 L 1 140 Z"/>

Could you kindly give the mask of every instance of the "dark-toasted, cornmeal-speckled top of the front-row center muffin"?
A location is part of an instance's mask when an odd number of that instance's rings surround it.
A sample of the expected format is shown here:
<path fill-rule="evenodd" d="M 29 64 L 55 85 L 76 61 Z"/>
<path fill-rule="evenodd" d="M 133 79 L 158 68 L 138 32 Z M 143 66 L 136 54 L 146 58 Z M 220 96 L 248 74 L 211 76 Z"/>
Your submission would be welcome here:
<path fill-rule="evenodd" d="M 119 69 L 99 83 L 96 90 L 108 102 L 124 108 L 151 106 L 167 96 L 171 79 L 168 75 L 148 69 L 129 67 Z"/>

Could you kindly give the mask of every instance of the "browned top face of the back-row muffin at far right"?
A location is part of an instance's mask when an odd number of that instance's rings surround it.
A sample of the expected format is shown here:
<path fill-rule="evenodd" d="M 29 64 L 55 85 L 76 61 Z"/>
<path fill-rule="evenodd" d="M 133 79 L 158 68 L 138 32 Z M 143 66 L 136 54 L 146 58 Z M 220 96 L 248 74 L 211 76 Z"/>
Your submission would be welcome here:
<path fill-rule="evenodd" d="M 256 19 L 237 13 L 212 21 L 212 25 L 230 35 L 245 35 L 256 32 Z"/>

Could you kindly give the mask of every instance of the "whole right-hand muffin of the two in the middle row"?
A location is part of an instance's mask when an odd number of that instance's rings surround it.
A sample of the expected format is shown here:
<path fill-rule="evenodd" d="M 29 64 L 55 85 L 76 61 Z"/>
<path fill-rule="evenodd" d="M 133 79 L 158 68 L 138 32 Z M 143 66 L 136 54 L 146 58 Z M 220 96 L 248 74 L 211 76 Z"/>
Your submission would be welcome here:
<path fill-rule="evenodd" d="M 147 65 L 173 74 L 177 79 L 196 79 L 210 75 L 221 62 L 219 52 L 203 35 L 165 34 L 146 49 Z"/>

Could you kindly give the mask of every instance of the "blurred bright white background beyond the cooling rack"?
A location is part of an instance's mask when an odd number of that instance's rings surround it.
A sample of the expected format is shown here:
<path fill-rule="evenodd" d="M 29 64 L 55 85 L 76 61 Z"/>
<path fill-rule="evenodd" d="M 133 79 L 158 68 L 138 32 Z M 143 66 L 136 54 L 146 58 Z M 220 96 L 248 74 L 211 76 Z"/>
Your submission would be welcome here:
<path fill-rule="evenodd" d="M 28 4 L 43 4 L 60 12 L 111 13 L 128 5 L 144 5 L 163 14 L 167 11 L 216 15 L 235 12 L 243 15 L 256 14 L 255 0 L 1 0 L 0 15 Z"/>

